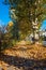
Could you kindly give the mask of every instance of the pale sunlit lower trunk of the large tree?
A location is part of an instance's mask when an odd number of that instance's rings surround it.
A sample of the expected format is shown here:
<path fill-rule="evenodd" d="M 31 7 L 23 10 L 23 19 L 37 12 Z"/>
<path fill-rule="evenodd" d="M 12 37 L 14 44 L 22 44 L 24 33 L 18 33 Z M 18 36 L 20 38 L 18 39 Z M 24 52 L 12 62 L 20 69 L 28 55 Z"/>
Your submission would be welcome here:
<path fill-rule="evenodd" d="M 32 22 L 33 25 L 33 43 L 39 41 L 39 27 L 36 22 Z"/>

